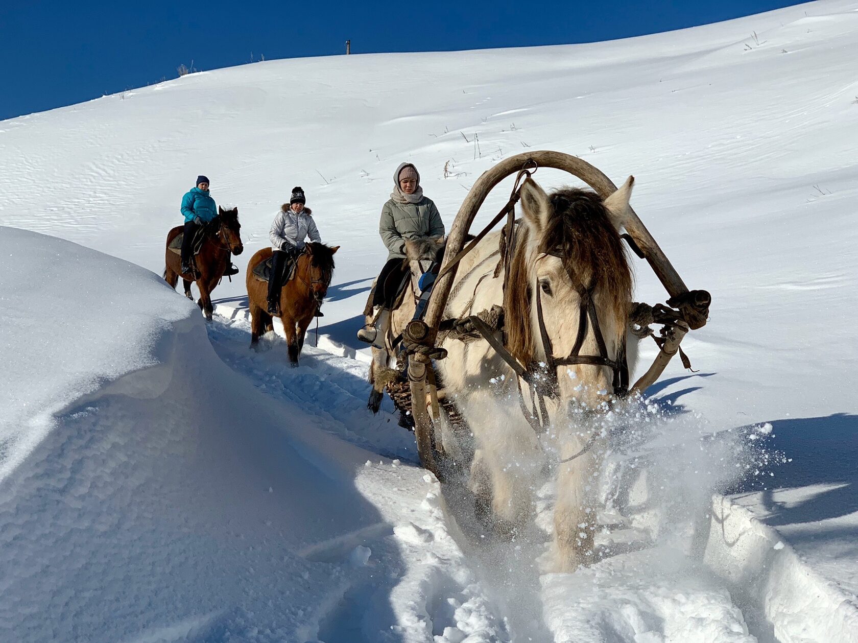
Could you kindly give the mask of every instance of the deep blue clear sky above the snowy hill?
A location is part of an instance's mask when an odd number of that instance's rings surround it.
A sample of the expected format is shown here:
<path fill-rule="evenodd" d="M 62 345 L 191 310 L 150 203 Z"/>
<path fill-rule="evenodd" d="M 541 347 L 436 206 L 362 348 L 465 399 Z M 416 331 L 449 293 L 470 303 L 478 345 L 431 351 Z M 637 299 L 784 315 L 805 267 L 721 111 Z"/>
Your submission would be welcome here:
<path fill-rule="evenodd" d="M 0 0 L 0 119 L 177 76 L 298 56 L 559 45 L 692 27 L 789 0 L 300 3 Z"/>

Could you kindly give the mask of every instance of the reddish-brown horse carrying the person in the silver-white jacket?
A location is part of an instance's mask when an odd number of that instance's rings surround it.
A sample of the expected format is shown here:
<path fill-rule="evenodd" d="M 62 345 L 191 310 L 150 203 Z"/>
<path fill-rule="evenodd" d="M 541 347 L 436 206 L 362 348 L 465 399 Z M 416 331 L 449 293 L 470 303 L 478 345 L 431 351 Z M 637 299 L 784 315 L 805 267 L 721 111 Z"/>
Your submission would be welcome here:
<path fill-rule="evenodd" d="M 328 294 L 334 274 L 334 253 L 340 246 L 308 243 L 299 255 L 295 276 L 280 290 L 280 319 L 289 347 L 289 363 L 298 366 L 298 355 L 304 348 L 307 326 Z M 259 337 L 274 329 L 267 308 L 268 282 L 253 274 L 253 269 L 271 256 L 271 248 L 263 248 L 247 264 L 247 300 L 251 308 L 251 348 L 256 348 Z"/>

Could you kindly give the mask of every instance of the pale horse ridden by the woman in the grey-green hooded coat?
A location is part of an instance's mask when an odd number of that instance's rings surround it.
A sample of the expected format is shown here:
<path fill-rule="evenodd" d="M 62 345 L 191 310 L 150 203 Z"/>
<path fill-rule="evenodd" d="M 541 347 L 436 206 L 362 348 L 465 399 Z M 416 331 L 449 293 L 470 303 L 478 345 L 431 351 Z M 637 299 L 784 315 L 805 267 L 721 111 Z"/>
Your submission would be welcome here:
<path fill-rule="evenodd" d="M 366 408 L 378 413 L 381 401 L 384 398 L 385 386 L 396 381 L 399 372 L 392 368 L 396 365 L 396 349 L 393 345 L 396 336 L 402 328 L 414 318 L 417 301 L 420 300 L 420 276 L 430 269 L 438 258 L 439 252 L 444 249 L 444 238 L 442 237 L 420 237 L 418 239 L 405 241 L 405 256 L 403 264 L 408 264 L 410 279 L 406 292 L 402 295 L 402 303 L 390 313 L 390 325 L 386 337 L 384 337 L 384 349 L 372 347 L 372 363 L 370 364 L 369 381 L 372 385 Z M 378 287 L 378 282 L 372 283 L 372 291 Z M 372 294 L 370 294 L 372 297 Z M 366 325 L 372 325 L 373 315 L 370 306 L 366 310 Z M 394 332 L 396 329 L 396 332 Z M 401 426 L 411 426 L 408 418 L 402 414 Z"/>

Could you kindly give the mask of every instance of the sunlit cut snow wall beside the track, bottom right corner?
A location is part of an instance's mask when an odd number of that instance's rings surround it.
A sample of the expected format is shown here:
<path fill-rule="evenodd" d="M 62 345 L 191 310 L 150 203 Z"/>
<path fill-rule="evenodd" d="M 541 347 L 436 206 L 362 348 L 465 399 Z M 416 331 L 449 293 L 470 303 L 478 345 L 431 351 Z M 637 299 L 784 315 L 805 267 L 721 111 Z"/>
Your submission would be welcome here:
<path fill-rule="evenodd" d="M 858 600 L 813 570 L 783 537 L 721 494 L 712 495 L 707 567 L 734 598 L 755 604 L 782 643 L 858 640 Z"/>

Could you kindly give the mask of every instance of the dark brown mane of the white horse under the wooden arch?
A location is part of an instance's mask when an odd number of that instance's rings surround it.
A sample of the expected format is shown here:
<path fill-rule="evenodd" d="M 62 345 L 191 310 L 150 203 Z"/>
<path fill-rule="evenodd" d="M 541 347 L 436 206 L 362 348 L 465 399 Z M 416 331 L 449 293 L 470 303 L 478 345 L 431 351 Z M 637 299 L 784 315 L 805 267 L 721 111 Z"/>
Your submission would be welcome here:
<path fill-rule="evenodd" d="M 541 231 L 537 252 L 558 255 L 565 270 L 585 287 L 595 285 L 596 302 L 602 309 L 607 307 L 613 312 L 620 320 L 620 331 L 624 332 L 633 285 L 631 268 L 601 197 L 589 190 L 563 188 L 554 191 L 549 201 L 553 212 L 546 229 Z M 528 226 L 519 227 L 510 282 L 504 291 L 506 346 L 524 364 L 535 353 L 535 329 L 530 316 L 533 288 L 527 252 L 529 234 Z M 518 314 L 510 314 L 511 311 Z"/>

